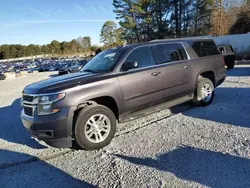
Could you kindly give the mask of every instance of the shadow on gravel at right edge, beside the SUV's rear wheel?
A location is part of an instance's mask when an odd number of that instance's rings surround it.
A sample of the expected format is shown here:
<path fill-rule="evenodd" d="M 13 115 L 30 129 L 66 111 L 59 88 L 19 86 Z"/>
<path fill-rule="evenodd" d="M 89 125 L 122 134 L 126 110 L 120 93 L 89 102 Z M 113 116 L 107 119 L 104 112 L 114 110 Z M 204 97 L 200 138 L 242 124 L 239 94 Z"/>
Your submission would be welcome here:
<path fill-rule="evenodd" d="M 184 111 L 189 117 L 250 128 L 250 88 L 217 88 L 214 101 L 199 110 Z"/>

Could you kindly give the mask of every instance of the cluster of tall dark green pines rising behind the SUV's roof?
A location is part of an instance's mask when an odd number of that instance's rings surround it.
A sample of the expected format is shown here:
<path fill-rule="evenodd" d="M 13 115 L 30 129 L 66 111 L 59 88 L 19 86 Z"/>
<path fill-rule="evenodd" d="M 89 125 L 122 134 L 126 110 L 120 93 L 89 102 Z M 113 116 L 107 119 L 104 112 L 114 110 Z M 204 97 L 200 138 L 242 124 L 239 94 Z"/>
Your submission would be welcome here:
<path fill-rule="evenodd" d="M 206 35 L 212 0 L 113 0 L 128 43 Z"/>

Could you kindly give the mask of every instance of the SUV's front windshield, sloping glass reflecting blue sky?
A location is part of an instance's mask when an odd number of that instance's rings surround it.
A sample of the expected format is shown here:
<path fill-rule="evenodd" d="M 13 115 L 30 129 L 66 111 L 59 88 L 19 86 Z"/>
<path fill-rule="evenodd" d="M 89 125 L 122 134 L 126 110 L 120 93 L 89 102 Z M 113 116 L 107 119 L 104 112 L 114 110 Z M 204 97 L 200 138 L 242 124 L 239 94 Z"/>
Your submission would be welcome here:
<path fill-rule="evenodd" d="M 110 72 L 120 58 L 122 52 L 118 49 L 105 50 L 93 57 L 81 70 L 91 72 Z"/>

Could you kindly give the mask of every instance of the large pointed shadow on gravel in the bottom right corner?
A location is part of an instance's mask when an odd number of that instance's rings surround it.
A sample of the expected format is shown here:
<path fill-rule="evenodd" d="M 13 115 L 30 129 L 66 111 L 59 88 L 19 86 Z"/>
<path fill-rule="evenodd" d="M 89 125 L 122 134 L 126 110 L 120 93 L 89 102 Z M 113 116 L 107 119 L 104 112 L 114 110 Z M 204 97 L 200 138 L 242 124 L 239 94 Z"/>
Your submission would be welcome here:
<path fill-rule="evenodd" d="M 170 172 L 209 187 L 249 187 L 250 160 L 229 154 L 180 147 L 157 159 L 115 155 L 130 163 Z"/>

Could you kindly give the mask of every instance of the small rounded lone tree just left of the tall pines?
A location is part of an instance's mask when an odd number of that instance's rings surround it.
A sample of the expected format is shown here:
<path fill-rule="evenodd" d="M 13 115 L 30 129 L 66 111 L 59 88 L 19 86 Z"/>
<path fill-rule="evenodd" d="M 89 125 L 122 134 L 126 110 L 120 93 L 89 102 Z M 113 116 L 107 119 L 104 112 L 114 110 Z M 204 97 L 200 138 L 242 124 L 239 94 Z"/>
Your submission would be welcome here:
<path fill-rule="evenodd" d="M 101 30 L 101 42 L 105 46 L 112 46 L 116 42 L 116 29 L 117 25 L 113 21 L 107 21 L 102 26 Z"/>

